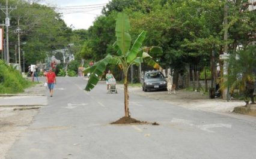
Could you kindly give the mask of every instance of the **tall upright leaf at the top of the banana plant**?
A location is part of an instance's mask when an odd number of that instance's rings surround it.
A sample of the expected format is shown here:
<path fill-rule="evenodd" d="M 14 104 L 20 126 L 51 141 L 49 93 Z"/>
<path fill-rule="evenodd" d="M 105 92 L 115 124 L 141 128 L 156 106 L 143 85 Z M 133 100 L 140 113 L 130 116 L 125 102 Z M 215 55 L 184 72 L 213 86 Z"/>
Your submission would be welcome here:
<path fill-rule="evenodd" d="M 118 13 L 117 23 L 115 25 L 115 36 L 117 37 L 117 45 L 123 55 L 130 49 L 132 38 L 129 34 L 130 22 L 125 13 Z"/>

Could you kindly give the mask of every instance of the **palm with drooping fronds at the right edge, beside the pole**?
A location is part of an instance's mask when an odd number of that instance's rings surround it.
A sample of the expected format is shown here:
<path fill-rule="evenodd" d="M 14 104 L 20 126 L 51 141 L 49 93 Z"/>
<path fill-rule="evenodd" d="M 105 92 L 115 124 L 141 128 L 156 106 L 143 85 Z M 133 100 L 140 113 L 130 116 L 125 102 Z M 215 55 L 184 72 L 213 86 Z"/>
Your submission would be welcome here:
<path fill-rule="evenodd" d="M 231 92 L 238 88 L 243 95 L 246 106 L 249 104 L 249 100 L 254 103 L 256 46 L 249 45 L 244 50 L 232 54 L 228 63 L 228 77 L 225 86 L 230 87 Z"/>

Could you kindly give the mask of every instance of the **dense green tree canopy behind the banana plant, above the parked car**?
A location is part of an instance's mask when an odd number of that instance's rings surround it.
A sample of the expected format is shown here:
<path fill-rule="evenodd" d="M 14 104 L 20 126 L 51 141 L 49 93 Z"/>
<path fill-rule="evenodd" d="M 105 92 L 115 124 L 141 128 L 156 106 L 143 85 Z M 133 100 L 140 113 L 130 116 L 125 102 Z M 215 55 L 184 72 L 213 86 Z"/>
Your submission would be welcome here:
<path fill-rule="evenodd" d="M 189 65 L 210 65 L 212 51 L 215 57 L 223 53 L 224 30 L 228 29 L 228 47 L 233 53 L 237 46 L 246 46 L 255 40 L 255 15 L 243 10 L 247 1 L 218 0 L 115 0 L 103 10 L 94 25 L 88 29 L 87 48 L 93 58 L 100 59 L 114 53 L 109 45 L 114 39 L 114 20 L 118 11 L 130 17 L 132 39 L 141 30 L 148 32 L 145 45 L 159 45 L 162 54 L 151 54 L 162 66 L 180 69 Z M 228 26 L 224 26 L 224 5 L 227 4 Z"/>

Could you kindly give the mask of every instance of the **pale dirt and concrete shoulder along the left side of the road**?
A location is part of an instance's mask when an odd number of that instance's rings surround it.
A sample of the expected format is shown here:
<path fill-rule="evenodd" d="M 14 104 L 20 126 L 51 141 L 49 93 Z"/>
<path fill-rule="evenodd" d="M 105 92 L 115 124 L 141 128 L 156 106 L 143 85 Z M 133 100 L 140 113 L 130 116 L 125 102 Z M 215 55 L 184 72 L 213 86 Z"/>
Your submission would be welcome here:
<path fill-rule="evenodd" d="M 0 97 L 0 159 L 5 158 L 19 134 L 28 128 L 39 108 L 47 105 L 45 93 L 46 88 L 37 84 L 24 93 Z"/>

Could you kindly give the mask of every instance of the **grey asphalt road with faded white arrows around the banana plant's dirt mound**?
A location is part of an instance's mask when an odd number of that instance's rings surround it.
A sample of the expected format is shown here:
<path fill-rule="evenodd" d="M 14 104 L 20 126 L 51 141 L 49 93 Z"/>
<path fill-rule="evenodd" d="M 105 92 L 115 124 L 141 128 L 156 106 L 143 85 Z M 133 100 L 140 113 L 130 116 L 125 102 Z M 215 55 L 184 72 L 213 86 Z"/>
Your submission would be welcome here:
<path fill-rule="evenodd" d="M 255 158 L 256 118 L 193 111 L 130 94 L 133 118 L 160 124 L 111 125 L 124 115 L 123 90 L 107 94 L 100 82 L 58 78 L 49 105 L 7 154 L 34 158 Z"/>

